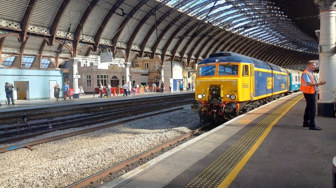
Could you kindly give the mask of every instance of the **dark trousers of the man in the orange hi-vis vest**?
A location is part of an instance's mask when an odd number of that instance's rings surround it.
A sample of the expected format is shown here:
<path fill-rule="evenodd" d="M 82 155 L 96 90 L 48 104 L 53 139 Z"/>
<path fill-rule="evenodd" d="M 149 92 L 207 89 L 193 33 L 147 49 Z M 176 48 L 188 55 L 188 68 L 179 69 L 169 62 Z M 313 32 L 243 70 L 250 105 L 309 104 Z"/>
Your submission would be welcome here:
<path fill-rule="evenodd" d="M 303 123 L 308 124 L 309 127 L 315 126 L 315 113 L 316 113 L 316 92 L 313 94 L 303 93 L 306 99 L 306 108 L 304 109 Z"/>

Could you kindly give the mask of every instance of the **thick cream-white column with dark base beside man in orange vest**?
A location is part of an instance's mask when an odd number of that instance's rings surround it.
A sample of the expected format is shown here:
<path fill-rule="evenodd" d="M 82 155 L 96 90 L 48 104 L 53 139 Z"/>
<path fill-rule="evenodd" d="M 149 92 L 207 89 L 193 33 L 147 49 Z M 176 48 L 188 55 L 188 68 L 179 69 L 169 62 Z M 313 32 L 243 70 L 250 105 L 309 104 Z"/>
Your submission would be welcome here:
<path fill-rule="evenodd" d="M 318 115 L 335 117 L 336 80 L 333 76 L 336 72 L 336 1 L 316 0 L 315 2 L 319 5 L 321 19 L 321 30 L 316 31 L 320 41 L 320 80 L 328 81 L 325 85 L 320 86 L 317 110 Z"/>

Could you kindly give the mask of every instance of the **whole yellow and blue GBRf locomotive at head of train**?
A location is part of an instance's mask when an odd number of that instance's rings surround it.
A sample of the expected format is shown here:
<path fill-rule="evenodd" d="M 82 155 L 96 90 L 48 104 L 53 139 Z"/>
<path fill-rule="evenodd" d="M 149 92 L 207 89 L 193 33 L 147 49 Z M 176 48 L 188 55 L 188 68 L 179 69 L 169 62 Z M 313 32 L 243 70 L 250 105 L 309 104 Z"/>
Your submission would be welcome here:
<path fill-rule="evenodd" d="M 226 121 L 288 93 L 287 71 L 233 52 L 218 52 L 198 63 L 196 101 L 200 120 Z"/>

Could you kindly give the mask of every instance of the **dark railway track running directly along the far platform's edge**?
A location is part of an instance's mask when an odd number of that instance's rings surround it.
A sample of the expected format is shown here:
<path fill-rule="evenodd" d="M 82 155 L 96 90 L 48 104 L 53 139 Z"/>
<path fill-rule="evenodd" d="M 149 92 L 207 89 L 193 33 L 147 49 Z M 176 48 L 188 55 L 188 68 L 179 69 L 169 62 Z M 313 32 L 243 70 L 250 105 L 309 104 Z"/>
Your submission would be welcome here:
<path fill-rule="evenodd" d="M 165 103 L 167 101 L 181 101 L 186 99 L 195 99 L 194 93 L 184 93 L 178 95 L 160 95 L 134 98 L 129 100 L 98 100 L 89 102 L 76 102 L 56 105 L 46 105 L 34 108 L 8 110 L 1 112 L 0 122 L 2 125 L 25 124 L 28 120 L 40 120 L 48 118 L 57 118 L 65 115 L 78 115 L 82 113 L 98 113 L 109 110 L 121 110 L 133 108 L 134 106 L 148 106 L 148 104 Z M 19 122 L 19 123 L 18 123 Z"/>

